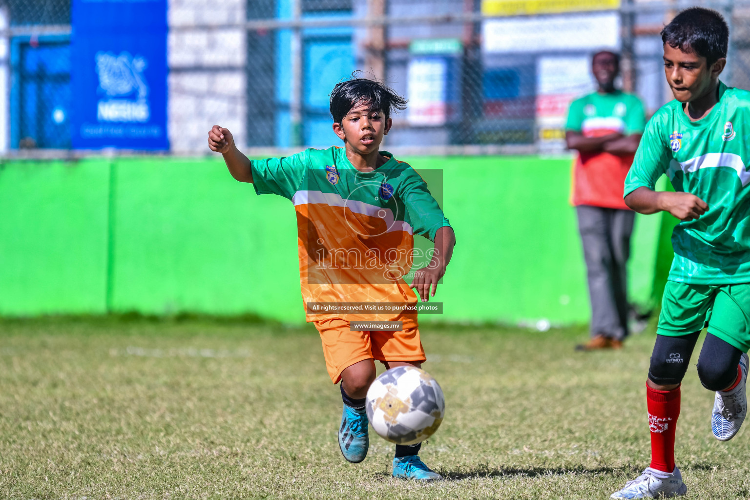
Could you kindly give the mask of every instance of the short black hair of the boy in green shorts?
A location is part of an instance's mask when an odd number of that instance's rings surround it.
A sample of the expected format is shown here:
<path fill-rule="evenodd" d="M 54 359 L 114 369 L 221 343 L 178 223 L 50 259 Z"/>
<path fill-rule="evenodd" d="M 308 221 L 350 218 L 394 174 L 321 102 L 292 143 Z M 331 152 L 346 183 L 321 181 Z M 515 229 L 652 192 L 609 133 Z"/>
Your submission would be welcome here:
<path fill-rule="evenodd" d="M 690 7 L 682 10 L 661 30 L 661 41 L 673 49 L 694 52 L 710 65 L 727 57 L 729 26 L 716 10 Z"/>

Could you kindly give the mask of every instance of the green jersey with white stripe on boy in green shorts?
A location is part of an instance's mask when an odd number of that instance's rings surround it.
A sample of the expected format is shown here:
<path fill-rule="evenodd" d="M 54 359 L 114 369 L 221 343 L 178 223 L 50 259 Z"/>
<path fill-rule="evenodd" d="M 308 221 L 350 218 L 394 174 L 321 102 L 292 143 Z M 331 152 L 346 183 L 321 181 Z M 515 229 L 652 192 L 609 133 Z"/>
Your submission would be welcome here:
<path fill-rule="evenodd" d="M 718 92 L 718 103 L 698 121 L 677 100 L 661 106 L 625 179 L 627 196 L 654 189 L 667 174 L 676 191 L 709 205 L 672 233 L 669 280 L 679 283 L 750 283 L 750 91 L 719 82 Z"/>

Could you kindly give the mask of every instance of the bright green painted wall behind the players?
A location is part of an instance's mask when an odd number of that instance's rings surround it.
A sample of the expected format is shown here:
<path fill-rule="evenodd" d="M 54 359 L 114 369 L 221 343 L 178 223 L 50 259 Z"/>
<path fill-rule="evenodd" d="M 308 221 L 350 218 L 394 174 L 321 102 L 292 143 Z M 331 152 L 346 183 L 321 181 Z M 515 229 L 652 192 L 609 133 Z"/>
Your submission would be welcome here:
<path fill-rule="evenodd" d="M 445 314 L 425 320 L 588 319 L 570 160 L 406 160 L 442 170 L 458 239 Z M 636 219 L 634 301 L 652 301 L 661 226 Z M 107 311 L 304 321 L 293 205 L 255 196 L 220 157 L 1 164 L 0 314 Z"/>

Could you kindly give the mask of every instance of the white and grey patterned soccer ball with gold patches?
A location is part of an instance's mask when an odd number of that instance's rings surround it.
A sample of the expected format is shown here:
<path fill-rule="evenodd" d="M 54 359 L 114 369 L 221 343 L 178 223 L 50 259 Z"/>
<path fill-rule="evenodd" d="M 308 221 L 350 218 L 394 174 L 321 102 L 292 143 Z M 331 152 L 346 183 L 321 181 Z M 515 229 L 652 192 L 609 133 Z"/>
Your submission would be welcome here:
<path fill-rule="evenodd" d="M 443 389 L 424 370 L 395 367 L 368 389 L 368 420 L 378 436 L 397 445 L 416 445 L 440 427 L 446 414 Z"/>

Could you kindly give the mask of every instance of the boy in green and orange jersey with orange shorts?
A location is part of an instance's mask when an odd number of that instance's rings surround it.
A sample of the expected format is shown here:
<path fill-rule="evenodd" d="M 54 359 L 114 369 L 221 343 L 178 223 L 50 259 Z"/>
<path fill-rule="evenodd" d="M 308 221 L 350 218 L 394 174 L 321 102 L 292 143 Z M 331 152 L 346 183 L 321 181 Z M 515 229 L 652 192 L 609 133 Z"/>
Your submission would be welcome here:
<path fill-rule="evenodd" d="M 251 161 L 226 128 L 214 126 L 208 133 L 209 147 L 223 154 L 236 180 L 253 183 L 258 194 L 278 194 L 294 203 L 307 321 L 320 332 L 331 380 L 341 381 L 338 445 L 351 463 L 365 460 L 370 444 L 365 397 L 375 379 L 374 359 L 386 368 L 420 367 L 425 361 L 410 288 L 422 301 L 434 296 L 455 244 L 453 229 L 425 181 L 407 163 L 378 151 L 391 128 L 391 112 L 405 108 L 406 100 L 386 85 L 351 79 L 331 93 L 333 130 L 344 148 Z M 403 276 L 413 264 L 414 233 L 430 238 L 435 247 L 431 262 L 415 271 L 410 286 Z M 396 307 L 377 314 L 316 309 L 345 303 Z M 401 326 L 358 331 L 352 324 L 375 320 Z M 395 478 L 440 479 L 419 459 L 419 448 L 396 445 Z"/>

